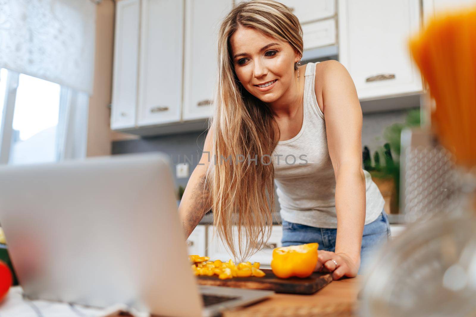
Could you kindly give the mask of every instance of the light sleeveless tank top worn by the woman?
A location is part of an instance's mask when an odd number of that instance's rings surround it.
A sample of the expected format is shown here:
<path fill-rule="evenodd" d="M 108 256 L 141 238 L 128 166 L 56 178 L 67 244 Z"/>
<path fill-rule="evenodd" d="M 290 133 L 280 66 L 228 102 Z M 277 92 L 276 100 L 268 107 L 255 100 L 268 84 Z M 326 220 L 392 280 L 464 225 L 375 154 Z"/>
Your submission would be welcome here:
<path fill-rule="evenodd" d="M 324 114 L 317 105 L 316 63 L 307 63 L 303 122 L 292 139 L 279 141 L 273 152 L 281 218 L 317 228 L 337 228 L 336 179 L 327 148 Z M 365 224 L 377 219 L 384 199 L 370 174 L 366 182 Z"/>

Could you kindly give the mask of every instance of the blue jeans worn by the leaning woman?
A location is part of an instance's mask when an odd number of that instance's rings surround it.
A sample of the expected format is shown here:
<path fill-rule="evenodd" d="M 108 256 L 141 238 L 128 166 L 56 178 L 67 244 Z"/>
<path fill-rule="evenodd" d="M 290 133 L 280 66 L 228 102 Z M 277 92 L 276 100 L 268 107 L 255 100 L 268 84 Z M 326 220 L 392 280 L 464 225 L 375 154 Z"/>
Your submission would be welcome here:
<path fill-rule="evenodd" d="M 305 243 L 319 243 L 318 250 L 336 251 L 337 229 L 316 228 L 303 224 L 283 220 L 283 247 Z M 390 224 L 387 213 L 382 211 L 376 220 L 364 226 L 362 235 L 362 247 L 360 249 L 360 268 L 358 274 L 362 274 L 372 254 L 379 246 L 390 240 Z"/>

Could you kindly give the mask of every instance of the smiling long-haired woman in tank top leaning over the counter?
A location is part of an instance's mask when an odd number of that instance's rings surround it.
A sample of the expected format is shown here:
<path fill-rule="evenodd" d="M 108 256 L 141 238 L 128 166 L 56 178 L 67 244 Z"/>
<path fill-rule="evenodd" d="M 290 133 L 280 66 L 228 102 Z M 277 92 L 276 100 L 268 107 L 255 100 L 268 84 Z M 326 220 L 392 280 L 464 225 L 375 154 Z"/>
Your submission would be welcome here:
<path fill-rule="evenodd" d="M 247 259 L 269 239 L 274 181 L 283 246 L 318 242 L 316 270 L 354 277 L 389 237 L 384 201 L 362 170 L 351 77 L 337 61 L 300 66 L 302 51 L 286 6 L 253 0 L 229 12 L 218 35 L 215 113 L 179 212 L 188 236 L 212 209 L 225 245 Z"/>

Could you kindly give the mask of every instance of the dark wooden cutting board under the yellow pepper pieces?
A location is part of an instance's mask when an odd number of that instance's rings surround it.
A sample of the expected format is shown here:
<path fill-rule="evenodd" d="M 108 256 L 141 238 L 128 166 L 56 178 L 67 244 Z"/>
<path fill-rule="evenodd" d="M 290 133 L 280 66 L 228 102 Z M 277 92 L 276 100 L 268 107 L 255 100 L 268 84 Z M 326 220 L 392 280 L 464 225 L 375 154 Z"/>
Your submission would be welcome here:
<path fill-rule="evenodd" d="M 277 293 L 288 294 L 314 294 L 332 282 L 332 275 L 328 272 L 314 272 L 309 277 L 280 279 L 273 274 L 271 269 L 262 269 L 266 276 L 257 278 L 255 276 L 249 278 L 233 278 L 218 279 L 214 276 L 198 276 L 198 284 L 211 286 L 228 286 L 236 288 L 253 288 L 274 290 Z"/>

